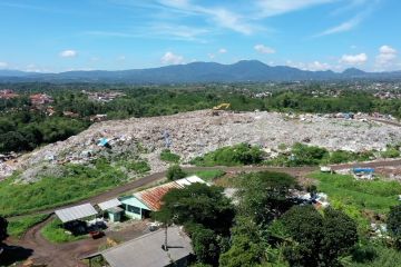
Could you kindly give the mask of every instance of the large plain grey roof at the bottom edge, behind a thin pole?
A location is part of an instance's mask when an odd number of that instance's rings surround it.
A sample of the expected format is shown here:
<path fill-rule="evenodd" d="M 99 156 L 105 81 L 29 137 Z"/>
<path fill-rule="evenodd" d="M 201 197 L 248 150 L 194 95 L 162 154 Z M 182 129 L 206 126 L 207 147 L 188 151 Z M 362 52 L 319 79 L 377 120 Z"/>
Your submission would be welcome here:
<path fill-rule="evenodd" d="M 190 239 L 178 227 L 168 227 L 167 237 L 167 251 L 162 249 L 165 229 L 159 229 L 109 248 L 101 255 L 111 267 L 163 267 L 193 254 Z"/>

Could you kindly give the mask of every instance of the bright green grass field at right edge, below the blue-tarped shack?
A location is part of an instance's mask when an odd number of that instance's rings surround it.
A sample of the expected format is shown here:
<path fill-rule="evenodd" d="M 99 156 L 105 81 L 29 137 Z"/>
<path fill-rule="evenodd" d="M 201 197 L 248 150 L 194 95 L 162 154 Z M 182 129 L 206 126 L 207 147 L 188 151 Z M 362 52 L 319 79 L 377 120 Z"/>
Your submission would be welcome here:
<path fill-rule="evenodd" d="M 352 176 L 330 174 L 313 174 L 312 178 L 319 180 L 319 190 L 330 198 L 380 214 L 397 205 L 398 195 L 401 195 L 401 184 L 397 181 L 356 180 Z"/>

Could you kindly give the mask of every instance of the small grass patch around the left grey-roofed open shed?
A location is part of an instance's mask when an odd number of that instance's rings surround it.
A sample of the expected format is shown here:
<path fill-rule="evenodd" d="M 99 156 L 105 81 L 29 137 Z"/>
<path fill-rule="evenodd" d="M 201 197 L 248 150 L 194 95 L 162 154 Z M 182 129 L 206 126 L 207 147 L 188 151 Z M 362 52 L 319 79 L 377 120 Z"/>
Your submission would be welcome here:
<path fill-rule="evenodd" d="M 74 236 L 67 234 L 67 230 L 61 227 L 61 220 L 59 219 L 52 219 L 40 230 L 40 233 L 47 240 L 51 243 L 69 243 L 88 237 L 88 235 Z"/>

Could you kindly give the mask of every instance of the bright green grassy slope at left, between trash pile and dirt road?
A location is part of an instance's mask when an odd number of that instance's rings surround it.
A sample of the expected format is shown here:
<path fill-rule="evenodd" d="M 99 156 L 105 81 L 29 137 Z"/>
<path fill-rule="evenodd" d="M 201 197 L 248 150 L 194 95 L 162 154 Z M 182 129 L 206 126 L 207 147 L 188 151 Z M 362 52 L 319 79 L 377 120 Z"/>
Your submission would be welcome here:
<path fill-rule="evenodd" d="M 96 168 L 68 165 L 61 178 L 43 177 L 32 184 L 14 184 L 16 176 L 0 182 L 3 216 L 29 214 L 96 196 L 127 181 L 118 168 L 98 161 Z"/>

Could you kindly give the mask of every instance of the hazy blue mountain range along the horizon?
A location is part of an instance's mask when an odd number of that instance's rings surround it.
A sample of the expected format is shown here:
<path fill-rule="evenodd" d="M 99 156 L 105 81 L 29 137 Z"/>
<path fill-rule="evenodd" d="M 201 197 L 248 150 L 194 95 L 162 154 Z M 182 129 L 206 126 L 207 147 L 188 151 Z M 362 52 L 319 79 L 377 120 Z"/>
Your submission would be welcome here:
<path fill-rule="evenodd" d="M 365 72 L 350 68 L 343 72 L 307 71 L 287 66 L 267 66 L 257 60 L 242 60 L 233 65 L 193 62 L 150 69 L 67 71 L 37 73 L 18 70 L 0 70 L 0 81 L 49 81 L 49 82 L 127 82 L 127 83 L 184 83 L 184 82 L 246 82 L 246 81 L 301 81 L 397 79 L 401 71 Z"/>

